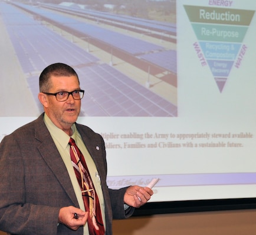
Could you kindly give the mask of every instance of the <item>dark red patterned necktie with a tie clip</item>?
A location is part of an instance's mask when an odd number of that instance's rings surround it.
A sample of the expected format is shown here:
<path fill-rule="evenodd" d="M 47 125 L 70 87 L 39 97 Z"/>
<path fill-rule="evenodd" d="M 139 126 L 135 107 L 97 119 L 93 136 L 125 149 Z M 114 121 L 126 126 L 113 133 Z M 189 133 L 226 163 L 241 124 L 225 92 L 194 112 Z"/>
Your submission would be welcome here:
<path fill-rule="evenodd" d="M 83 154 L 78 149 L 74 139 L 70 138 L 70 156 L 74 171 L 80 184 L 84 206 L 88 216 L 88 229 L 90 235 L 104 235 L 105 229 L 101 217 L 100 203 L 96 190 L 94 189 L 93 181 L 87 168 Z"/>

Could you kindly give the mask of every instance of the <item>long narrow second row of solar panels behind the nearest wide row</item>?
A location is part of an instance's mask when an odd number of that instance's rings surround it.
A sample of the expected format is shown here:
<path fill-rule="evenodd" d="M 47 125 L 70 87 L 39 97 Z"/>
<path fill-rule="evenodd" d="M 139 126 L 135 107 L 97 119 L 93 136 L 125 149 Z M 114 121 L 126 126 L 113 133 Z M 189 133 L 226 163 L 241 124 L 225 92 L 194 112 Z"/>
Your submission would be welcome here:
<path fill-rule="evenodd" d="M 34 12 L 35 14 L 44 17 L 44 19 L 50 22 L 54 22 L 54 24 L 62 25 L 70 32 L 77 32 L 80 36 L 87 38 L 87 40 L 90 42 L 102 42 L 104 45 L 107 45 L 108 48 L 116 48 L 119 50 L 119 52 L 125 52 L 126 55 L 122 56 L 122 59 L 127 58 L 127 61 L 129 62 L 136 61 L 133 63 L 133 65 L 139 65 L 139 63 L 142 62 L 141 59 L 143 59 L 143 61 L 145 61 L 149 67 L 153 66 L 155 69 L 160 68 L 163 70 L 168 70 L 172 74 L 177 74 L 177 58 L 176 51 L 174 50 L 166 50 L 163 48 L 163 46 L 145 42 L 141 39 L 133 38 L 132 36 L 123 35 L 122 33 L 110 31 L 97 25 L 85 24 L 84 22 L 78 21 L 77 19 L 55 14 L 54 12 L 48 12 L 41 8 L 34 8 L 24 4 L 18 5 L 24 9 L 27 9 L 28 11 Z M 119 16 L 119 18 L 121 17 Z M 139 24 L 143 25 L 142 20 L 139 22 Z M 164 23 L 165 22 L 163 22 L 163 24 Z M 151 24 L 155 24 L 155 22 Z M 137 60 L 138 58 L 140 58 L 139 61 Z M 151 69 L 153 74 L 155 69 Z"/>

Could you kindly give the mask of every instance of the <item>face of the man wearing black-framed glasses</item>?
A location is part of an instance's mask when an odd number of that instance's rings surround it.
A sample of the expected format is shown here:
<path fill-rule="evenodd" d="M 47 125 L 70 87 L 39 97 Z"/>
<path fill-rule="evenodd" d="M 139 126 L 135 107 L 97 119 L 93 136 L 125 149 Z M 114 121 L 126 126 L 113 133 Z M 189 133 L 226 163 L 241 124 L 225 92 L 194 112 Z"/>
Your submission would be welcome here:
<path fill-rule="evenodd" d="M 73 92 L 80 89 L 76 76 L 52 76 L 51 84 L 49 93 Z M 72 95 L 69 95 L 68 99 L 63 102 L 58 101 L 52 95 L 47 95 L 46 99 L 45 113 L 57 127 L 65 132 L 70 131 L 71 125 L 76 122 L 80 113 L 81 100 L 75 100 Z"/>

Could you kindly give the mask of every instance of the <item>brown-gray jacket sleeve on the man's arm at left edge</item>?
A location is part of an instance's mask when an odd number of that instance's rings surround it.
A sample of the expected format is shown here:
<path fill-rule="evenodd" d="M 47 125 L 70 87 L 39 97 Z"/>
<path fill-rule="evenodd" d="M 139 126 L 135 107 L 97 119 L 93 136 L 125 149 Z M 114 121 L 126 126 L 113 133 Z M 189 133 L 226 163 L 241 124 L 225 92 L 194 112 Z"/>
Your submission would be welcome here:
<path fill-rule="evenodd" d="M 0 230 L 11 234 L 57 234 L 60 208 L 26 202 L 21 152 L 14 135 L 5 136 L 0 143 Z"/>

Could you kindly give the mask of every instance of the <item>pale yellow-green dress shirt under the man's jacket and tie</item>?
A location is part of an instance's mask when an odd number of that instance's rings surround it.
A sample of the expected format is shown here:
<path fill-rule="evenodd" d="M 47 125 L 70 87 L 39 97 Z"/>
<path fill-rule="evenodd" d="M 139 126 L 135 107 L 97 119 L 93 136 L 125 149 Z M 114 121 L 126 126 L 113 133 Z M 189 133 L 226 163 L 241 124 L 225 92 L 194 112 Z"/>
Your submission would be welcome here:
<path fill-rule="evenodd" d="M 54 143 L 58 149 L 58 152 L 60 152 L 60 155 L 63 159 L 63 162 L 67 168 L 68 174 L 70 175 L 71 182 L 74 187 L 74 192 L 76 193 L 77 196 L 77 201 L 80 206 L 80 209 L 85 211 L 84 209 L 84 202 L 81 194 L 81 189 L 77 181 L 76 174 L 74 172 L 74 168 L 71 163 L 71 157 L 70 157 L 70 145 L 68 145 L 68 142 L 70 140 L 70 137 L 72 137 L 76 141 L 76 145 L 80 149 L 80 151 L 83 153 L 84 158 L 86 159 L 86 164 L 88 167 L 88 170 L 91 175 L 91 179 L 93 180 L 94 188 L 97 192 L 97 195 L 99 197 L 99 202 L 100 202 L 100 209 L 101 209 L 101 215 L 103 219 L 104 226 L 106 227 L 106 221 L 105 221 L 105 206 L 104 206 L 104 198 L 103 198 L 103 192 L 101 190 L 101 182 L 100 182 L 100 177 L 97 172 L 96 165 L 93 161 L 93 159 L 90 156 L 90 153 L 88 153 L 88 150 L 86 146 L 84 145 L 83 140 L 81 139 L 80 133 L 78 132 L 76 125 L 73 124 L 72 131 L 73 135 L 68 136 L 63 130 L 58 128 L 57 126 L 52 123 L 51 119 L 46 115 L 44 115 L 44 122 L 45 125 L 47 126 L 47 129 L 49 130 L 52 139 L 54 140 Z M 67 205 L 68 206 L 68 205 Z M 84 226 L 84 235 L 88 235 L 88 225 Z"/>

